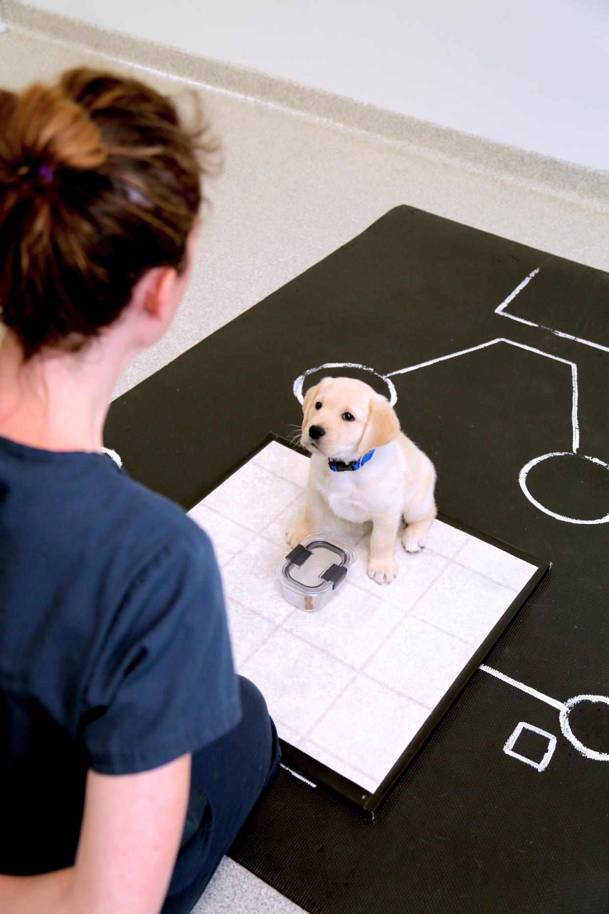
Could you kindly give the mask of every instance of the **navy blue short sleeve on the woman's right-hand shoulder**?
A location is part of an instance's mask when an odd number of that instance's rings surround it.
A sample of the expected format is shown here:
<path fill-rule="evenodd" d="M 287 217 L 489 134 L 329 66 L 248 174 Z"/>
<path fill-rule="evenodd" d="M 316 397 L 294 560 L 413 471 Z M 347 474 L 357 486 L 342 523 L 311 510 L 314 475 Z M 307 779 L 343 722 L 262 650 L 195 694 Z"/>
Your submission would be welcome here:
<path fill-rule="evenodd" d="M 81 733 L 102 774 L 147 771 L 241 718 L 222 584 L 205 533 L 179 531 L 132 581 L 86 690 Z"/>

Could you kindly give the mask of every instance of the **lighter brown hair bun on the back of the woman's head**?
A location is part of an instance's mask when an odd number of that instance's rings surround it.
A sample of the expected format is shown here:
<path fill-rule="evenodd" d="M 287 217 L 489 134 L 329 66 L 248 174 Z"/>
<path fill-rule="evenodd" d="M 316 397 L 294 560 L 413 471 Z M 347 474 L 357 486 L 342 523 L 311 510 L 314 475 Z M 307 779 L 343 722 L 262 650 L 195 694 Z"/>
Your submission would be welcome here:
<path fill-rule="evenodd" d="M 57 86 L 34 83 L 11 101 L 2 157 L 21 177 L 37 172 L 37 165 L 88 171 L 106 160 L 105 143 L 89 112 Z"/>

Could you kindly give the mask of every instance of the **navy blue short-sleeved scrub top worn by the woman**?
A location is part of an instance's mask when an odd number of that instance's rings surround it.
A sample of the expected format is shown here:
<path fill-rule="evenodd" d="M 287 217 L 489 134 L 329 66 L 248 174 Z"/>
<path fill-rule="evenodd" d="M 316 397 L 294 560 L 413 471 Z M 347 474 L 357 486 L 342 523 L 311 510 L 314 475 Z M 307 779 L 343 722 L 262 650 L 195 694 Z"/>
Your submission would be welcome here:
<path fill-rule="evenodd" d="M 147 771 L 240 716 L 203 530 L 105 454 L 0 438 L 0 873 L 73 863 L 89 768 Z"/>

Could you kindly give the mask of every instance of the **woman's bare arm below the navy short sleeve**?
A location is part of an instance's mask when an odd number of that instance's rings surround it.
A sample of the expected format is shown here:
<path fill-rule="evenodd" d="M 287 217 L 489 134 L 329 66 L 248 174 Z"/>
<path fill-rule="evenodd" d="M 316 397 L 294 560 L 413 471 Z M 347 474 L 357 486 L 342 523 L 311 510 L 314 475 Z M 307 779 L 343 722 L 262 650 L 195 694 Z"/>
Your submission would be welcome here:
<path fill-rule="evenodd" d="M 138 774 L 89 771 L 68 909 L 158 914 L 184 830 L 190 755 Z"/>

